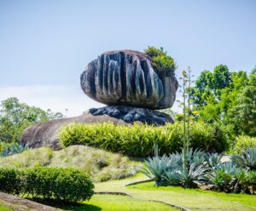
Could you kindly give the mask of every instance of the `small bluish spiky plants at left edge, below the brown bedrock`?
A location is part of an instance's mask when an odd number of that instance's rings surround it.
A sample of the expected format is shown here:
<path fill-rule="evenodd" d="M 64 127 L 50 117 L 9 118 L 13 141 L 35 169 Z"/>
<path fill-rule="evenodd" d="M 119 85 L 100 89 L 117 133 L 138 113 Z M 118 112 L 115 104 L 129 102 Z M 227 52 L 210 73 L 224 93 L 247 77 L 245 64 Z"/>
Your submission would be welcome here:
<path fill-rule="evenodd" d="M 3 156 L 3 157 L 28 150 L 28 146 L 26 144 L 18 144 L 18 143 L 7 144 L 5 142 L 2 142 L 0 144 L 1 144 L 0 156 Z"/>

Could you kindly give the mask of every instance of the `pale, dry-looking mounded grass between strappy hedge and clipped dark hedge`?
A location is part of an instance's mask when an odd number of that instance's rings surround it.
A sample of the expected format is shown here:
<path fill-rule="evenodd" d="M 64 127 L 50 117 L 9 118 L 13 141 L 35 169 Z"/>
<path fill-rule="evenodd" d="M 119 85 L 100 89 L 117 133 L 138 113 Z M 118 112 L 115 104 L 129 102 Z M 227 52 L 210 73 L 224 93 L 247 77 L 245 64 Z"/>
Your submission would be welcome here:
<path fill-rule="evenodd" d="M 141 163 L 117 153 L 98 150 L 84 145 L 73 145 L 61 151 L 47 147 L 23 151 L 9 157 L 0 157 L 2 168 L 31 168 L 36 166 L 75 168 L 92 176 L 96 182 L 119 180 L 133 176 Z"/>

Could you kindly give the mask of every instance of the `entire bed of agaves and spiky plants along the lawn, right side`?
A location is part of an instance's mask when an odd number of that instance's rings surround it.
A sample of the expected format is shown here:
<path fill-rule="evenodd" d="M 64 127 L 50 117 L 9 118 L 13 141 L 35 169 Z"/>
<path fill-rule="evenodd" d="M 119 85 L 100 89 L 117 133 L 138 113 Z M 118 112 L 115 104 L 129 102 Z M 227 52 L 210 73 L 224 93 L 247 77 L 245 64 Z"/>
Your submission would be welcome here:
<path fill-rule="evenodd" d="M 183 168 L 183 157 L 185 168 Z M 221 162 L 222 156 L 190 149 L 169 156 L 148 158 L 143 173 L 156 185 L 197 187 L 209 185 L 212 190 L 225 192 L 256 191 L 256 148 L 242 151 L 231 161 Z"/>

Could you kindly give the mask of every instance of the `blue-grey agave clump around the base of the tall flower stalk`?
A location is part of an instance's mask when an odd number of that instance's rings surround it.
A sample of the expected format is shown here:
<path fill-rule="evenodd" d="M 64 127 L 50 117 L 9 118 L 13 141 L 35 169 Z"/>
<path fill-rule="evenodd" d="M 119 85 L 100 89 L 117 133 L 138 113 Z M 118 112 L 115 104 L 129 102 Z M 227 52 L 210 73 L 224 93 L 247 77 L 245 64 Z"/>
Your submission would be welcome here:
<path fill-rule="evenodd" d="M 186 157 L 184 159 L 184 157 Z M 187 162 L 183 168 L 183 162 Z M 153 157 L 145 161 L 143 174 L 155 180 L 156 185 L 182 185 L 195 187 L 205 180 L 207 172 L 206 154 L 202 151 L 181 151 L 172 153 L 169 157 Z"/>

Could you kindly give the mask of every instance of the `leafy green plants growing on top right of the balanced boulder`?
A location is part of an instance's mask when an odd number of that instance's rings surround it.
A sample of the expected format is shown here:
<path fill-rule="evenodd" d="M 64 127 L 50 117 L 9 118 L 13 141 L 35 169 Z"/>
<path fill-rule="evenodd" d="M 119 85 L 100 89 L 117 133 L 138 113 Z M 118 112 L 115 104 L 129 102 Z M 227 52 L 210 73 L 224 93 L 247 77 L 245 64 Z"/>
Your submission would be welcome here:
<path fill-rule="evenodd" d="M 176 64 L 171 56 L 167 55 L 164 48 L 155 48 L 148 46 L 144 50 L 145 54 L 148 54 L 152 58 L 152 66 L 161 76 L 171 77 L 174 75 Z"/>

